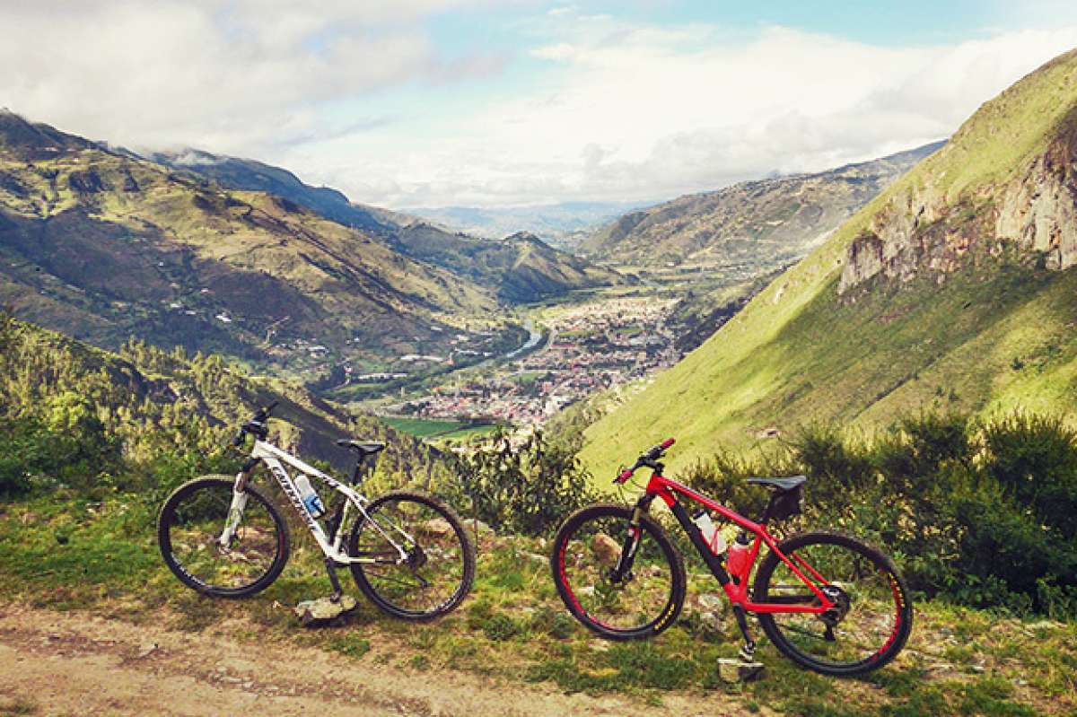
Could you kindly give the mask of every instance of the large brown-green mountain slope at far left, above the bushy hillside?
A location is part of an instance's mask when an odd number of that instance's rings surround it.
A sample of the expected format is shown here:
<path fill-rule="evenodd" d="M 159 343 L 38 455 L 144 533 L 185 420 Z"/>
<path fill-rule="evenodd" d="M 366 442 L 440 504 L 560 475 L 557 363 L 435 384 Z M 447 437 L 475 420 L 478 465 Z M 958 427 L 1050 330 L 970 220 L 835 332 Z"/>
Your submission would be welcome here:
<path fill-rule="evenodd" d="M 304 360 L 307 346 L 377 361 L 496 306 L 373 233 L 8 112 L 0 303 L 99 346 L 135 335 L 260 362 Z"/>

